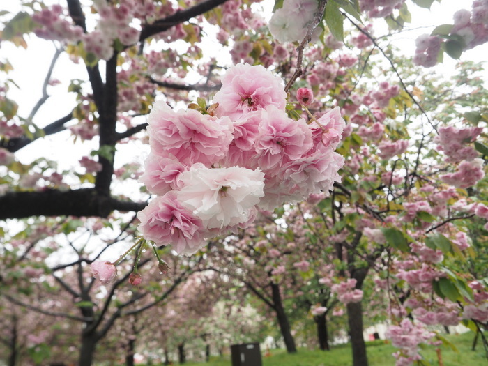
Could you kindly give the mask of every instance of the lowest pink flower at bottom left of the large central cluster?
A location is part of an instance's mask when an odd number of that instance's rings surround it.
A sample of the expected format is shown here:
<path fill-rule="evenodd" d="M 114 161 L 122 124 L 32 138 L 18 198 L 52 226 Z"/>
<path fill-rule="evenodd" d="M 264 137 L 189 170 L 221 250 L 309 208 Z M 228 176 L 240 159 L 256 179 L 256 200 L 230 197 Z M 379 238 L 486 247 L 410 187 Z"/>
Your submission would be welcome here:
<path fill-rule="evenodd" d="M 178 254 L 193 254 L 204 244 L 202 234 L 206 231 L 201 220 L 178 201 L 176 191 L 153 199 L 137 218 L 146 240 L 172 245 Z"/>

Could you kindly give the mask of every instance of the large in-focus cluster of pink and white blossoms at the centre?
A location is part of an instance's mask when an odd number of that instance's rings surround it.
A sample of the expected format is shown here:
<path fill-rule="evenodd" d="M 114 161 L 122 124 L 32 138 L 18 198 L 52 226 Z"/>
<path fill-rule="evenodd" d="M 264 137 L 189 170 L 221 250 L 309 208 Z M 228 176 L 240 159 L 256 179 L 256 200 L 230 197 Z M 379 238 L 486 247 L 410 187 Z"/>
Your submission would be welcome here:
<path fill-rule="evenodd" d="M 338 108 L 311 124 L 294 121 L 282 80 L 248 64 L 227 71 L 213 102 L 207 114 L 156 102 L 148 116 L 151 154 L 141 180 L 158 197 L 139 212 L 139 230 L 178 253 L 245 229 L 258 209 L 302 201 L 340 181 L 344 159 L 334 150 L 345 123 Z"/>

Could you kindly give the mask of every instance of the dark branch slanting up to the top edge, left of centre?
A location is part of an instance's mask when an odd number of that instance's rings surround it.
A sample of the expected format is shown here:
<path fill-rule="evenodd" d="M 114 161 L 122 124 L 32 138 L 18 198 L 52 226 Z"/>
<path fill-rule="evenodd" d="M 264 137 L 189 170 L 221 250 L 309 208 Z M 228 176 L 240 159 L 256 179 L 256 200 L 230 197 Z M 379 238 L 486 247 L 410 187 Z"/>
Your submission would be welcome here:
<path fill-rule="evenodd" d="M 226 1 L 227 0 L 202 1 L 191 8 L 178 11 L 173 15 L 169 15 L 169 17 L 165 17 L 165 19 L 156 20 L 153 24 L 145 24 L 142 28 L 141 35 L 139 36 L 139 41 L 142 42 L 148 37 L 167 31 L 176 24 L 186 22 L 192 17 L 197 17 L 198 15 L 204 14 L 217 6 L 222 5 L 222 3 L 225 3 Z"/>

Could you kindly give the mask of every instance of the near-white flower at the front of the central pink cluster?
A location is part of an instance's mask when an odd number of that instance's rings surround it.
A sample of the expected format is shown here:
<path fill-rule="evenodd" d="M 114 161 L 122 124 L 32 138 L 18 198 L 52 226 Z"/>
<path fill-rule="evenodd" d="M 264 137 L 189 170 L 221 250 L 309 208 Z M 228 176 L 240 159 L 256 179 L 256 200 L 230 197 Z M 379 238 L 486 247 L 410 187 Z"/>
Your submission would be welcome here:
<path fill-rule="evenodd" d="M 264 174 L 243 167 L 193 166 L 179 178 L 178 199 L 208 229 L 247 222 L 264 192 Z"/>

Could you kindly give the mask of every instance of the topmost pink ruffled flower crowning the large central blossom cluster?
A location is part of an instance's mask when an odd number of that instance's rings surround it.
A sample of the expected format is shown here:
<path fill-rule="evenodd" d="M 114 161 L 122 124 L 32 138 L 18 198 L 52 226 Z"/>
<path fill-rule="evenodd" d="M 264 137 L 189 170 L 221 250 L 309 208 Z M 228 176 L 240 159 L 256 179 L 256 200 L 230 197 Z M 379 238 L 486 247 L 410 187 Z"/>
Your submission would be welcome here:
<path fill-rule="evenodd" d="M 215 114 L 237 120 L 248 112 L 274 105 L 284 111 L 287 104 L 284 84 L 263 66 L 238 63 L 222 77 L 222 88 L 213 102 L 219 103 Z"/>

